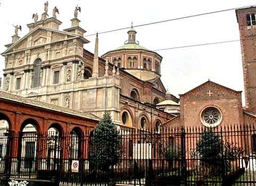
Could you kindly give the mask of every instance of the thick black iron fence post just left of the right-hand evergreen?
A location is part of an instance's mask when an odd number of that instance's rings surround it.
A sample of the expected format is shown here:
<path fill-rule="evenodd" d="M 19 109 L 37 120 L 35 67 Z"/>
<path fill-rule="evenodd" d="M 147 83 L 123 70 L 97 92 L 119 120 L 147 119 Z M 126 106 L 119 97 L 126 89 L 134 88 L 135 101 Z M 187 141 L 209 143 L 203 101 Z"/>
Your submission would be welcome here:
<path fill-rule="evenodd" d="M 186 133 L 185 129 L 181 128 L 181 156 L 180 156 L 180 168 L 181 168 L 181 184 L 180 186 L 185 186 L 187 182 L 187 168 L 186 168 Z"/>

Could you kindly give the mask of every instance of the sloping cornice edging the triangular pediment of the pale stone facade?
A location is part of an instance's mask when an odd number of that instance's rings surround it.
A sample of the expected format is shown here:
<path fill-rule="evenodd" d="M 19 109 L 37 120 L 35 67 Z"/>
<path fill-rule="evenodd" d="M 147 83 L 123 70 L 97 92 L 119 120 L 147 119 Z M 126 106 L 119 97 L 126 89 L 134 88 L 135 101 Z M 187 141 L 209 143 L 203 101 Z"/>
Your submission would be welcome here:
<path fill-rule="evenodd" d="M 55 30 L 52 28 L 47 28 L 47 27 L 42 27 L 42 26 L 37 26 L 36 28 L 34 28 L 33 30 L 31 30 L 30 32 L 27 33 L 26 36 L 24 36 L 23 38 L 21 38 L 20 40 L 18 40 L 16 43 L 12 44 L 9 48 L 7 48 L 1 55 L 4 55 L 8 52 L 10 52 L 10 50 L 12 50 L 15 46 L 18 46 L 22 41 L 24 41 L 25 39 L 27 39 L 30 35 L 32 35 L 34 32 L 36 32 L 37 30 L 49 30 L 49 31 L 53 31 L 53 32 L 57 32 L 57 33 L 61 33 L 63 35 L 68 35 L 68 36 L 72 36 L 74 38 L 80 38 L 84 41 L 84 43 L 89 43 L 90 41 L 81 37 L 80 35 L 77 35 L 75 33 L 70 33 L 70 32 L 66 32 L 66 31 L 60 31 L 60 30 Z M 49 44 L 49 43 L 45 43 Z"/>

